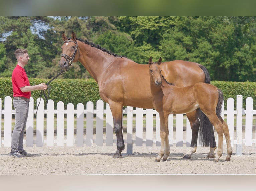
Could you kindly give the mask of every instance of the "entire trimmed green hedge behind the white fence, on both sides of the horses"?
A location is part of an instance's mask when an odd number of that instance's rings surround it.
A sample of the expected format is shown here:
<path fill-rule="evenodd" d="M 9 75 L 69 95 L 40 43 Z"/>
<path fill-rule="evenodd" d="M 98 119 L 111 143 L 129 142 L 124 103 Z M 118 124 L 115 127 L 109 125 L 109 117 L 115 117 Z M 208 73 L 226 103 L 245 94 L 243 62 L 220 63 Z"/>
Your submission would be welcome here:
<path fill-rule="evenodd" d="M 37 85 L 40 83 L 47 83 L 49 80 L 45 79 L 30 79 L 30 85 Z M 4 98 L 6 96 L 12 97 L 12 82 L 11 78 L 0 78 L 1 90 L 0 98 L 2 99 L 2 107 L 4 106 Z M 211 84 L 222 90 L 224 94 L 224 109 L 227 107 L 227 99 L 243 95 L 243 107 L 245 108 L 245 101 L 247 97 L 252 97 L 254 101 L 254 109 L 256 108 L 256 82 L 224 82 L 212 81 Z M 86 106 L 88 101 L 92 101 L 96 105 L 96 101 L 101 99 L 99 95 L 99 88 L 93 79 L 55 79 L 50 83 L 50 96 L 55 106 L 58 101 L 62 101 L 65 107 L 68 103 L 73 103 L 75 108 L 78 103 L 83 103 Z M 41 91 L 32 91 L 31 96 L 36 100 L 40 97 Z M 48 92 L 45 92 L 46 95 Z M 44 97 L 43 97 L 44 98 Z M 35 103 L 36 104 L 36 103 Z M 36 105 L 35 105 L 36 107 Z"/>

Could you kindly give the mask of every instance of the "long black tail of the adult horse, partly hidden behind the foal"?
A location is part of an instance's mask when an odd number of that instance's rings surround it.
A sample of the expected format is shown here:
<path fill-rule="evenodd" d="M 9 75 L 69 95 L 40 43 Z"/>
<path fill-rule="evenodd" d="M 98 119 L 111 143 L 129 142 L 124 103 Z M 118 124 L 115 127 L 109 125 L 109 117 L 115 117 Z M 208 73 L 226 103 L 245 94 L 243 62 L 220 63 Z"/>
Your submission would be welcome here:
<path fill-rule="evenodd" d="M 211 78 L 210 78 L 208 70 L 203 65 L 199 65 L 199 67 L 205 73 L 205 83 L 210 84 Z M 199 128 L 199 130 L 200 130 L 200 143 L 203 146 L 216 147 L 216 142 L 215 142 L 212 123 L 210 122 L 208 117 L 203 113 L 203 111 L 201 109 L 199 109 L 198 113 L 199 113 L 198 117 L 200 119 L 200 128 Z"/>

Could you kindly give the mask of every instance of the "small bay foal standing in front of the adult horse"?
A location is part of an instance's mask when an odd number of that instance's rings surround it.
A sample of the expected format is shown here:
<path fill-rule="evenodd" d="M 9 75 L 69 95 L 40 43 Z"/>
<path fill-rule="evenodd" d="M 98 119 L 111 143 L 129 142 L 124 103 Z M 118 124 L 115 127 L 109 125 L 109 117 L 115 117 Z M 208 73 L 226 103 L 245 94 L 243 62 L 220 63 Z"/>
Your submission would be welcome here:
<path fill-rule="evenodd" d="M 166 82 L 161 75 L 161 62 L 161 57 L 158 63 L 152 63 L 152 57 L 150 57 L 148 61 L 153 106 L 160 116 L 161 148 L 155 161 L 159 162 L 162 157 L 163 161 L 166 161 L 170 154 L 168 115 L 189 113 L 198 108 L 205 113 L 218 133 L 219 142 L 214 162 L 218 162 L 223 153 L 223 133 L 227 141 L 226 160 L 230 161 L 232 147 L 229 128 L 220 115 L 223 103 L 222 91 L 211 84 L 202 82 L 183 88 L 174 86 Z M 213 128 L 213 126 L 211 128 Z M 201 128 L 205 128 L 205 126 Z"/>

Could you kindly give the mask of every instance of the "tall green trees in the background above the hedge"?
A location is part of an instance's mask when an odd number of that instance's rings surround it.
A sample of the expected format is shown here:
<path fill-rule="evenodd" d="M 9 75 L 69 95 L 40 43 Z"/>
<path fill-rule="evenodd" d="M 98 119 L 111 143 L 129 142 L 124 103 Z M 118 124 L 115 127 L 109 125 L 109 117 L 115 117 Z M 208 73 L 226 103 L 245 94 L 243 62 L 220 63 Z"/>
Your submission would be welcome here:
<path fill-rule="evenodd" d="M 212 80 L 256 81 L 256 17 L 65 16 L 0 17 L 0 77 L 10 77 L 16 48 L 28 49 L 29 78 L 50 79 L 60 70 L 61 32 L 146 64 L 148 58 L 200 63 Z M 74 63 L 65 79 L 90 78 Z"/>

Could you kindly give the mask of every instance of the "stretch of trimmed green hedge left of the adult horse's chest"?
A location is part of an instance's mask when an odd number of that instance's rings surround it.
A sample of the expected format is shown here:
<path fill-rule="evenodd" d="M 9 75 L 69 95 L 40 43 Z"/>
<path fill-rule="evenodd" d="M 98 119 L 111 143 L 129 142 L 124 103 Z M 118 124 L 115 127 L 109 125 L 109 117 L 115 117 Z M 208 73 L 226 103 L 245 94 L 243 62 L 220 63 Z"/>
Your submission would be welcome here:
<path fill-rule="evenodd" d="M 47 83 L 45 79 L 29 79 L 30 85 L 34 86 L 40 83 Z M 13 95 L 11 78 L 0 78 L 2 99 L 2 107 L 4 106 L 4 98 Z M 86 107 L 88 101 L 92 101 L 96 105 L 96 101 L 101 99 L 99 95 L 98 84 L 93 79 L 55 79 L 50 84 L 50 95 L 48 99 L 54 101 L 54 106 L 58 101 L 62 101 L 65 107 L 68 103 L 73 103 L 75 108 L 78 103 L 83 103 Z M 36 100 L 40 97 L 41 91 L 32 91 L 31 96 Z M 48 96 L 48 91 L 45 91 Z M 42 94 L 42 98 L 44 95 Z M 46 102 L 45 102 L 46 104 Z M 34 107 L 36 108 L 36 101 Z"/>

